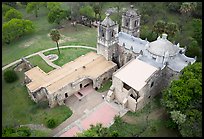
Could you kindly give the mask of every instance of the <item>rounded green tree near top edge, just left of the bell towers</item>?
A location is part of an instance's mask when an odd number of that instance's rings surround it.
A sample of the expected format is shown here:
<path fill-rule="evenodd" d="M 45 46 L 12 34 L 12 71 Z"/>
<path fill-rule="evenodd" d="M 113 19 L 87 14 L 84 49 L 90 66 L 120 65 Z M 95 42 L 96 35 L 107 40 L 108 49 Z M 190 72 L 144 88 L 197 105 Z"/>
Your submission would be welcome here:
<path fill-rule="evenodd" d="M 81 15 L 86 16 L 89 19 L 93 19 L 94 18 L 94 10 L 90 5 L 86 5 L 80 8 L 79 13 Z"/>

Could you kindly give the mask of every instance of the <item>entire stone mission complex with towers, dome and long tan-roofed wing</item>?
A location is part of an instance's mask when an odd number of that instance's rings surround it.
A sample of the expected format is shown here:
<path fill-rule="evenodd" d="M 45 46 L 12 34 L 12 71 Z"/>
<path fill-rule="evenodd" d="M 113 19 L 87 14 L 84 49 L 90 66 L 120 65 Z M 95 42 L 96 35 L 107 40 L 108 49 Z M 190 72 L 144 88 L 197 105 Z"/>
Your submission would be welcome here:
<path fill-rule="evenodd" d="M 39 67 L 25 72 L 31 99 L 48 100 L 50 107 L 64 105 L 87 85 L 97 90 L 112 78 L 107 101 L 131 111 L 143 108 L 196 59 L 185 56 L 185 49 L 171 43 L 165 33 L 153 42 L 139 38 L 140 18 L 131 6 L 122 15 L 119 32 L 119 25 L 107 14 L 98 24 L 97 53 L 82 55 L 49 73 Z"/>

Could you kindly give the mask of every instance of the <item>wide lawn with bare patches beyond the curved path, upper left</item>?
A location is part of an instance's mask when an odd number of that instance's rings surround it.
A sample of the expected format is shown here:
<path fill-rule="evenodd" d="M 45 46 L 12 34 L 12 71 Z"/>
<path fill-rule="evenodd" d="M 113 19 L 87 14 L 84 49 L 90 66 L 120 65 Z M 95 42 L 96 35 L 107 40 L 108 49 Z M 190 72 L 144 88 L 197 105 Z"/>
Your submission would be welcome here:
<path fill-rule="evenodd" d="M 35 18 L 33 14 L 27 14 L 25 9 L 20 9 L 20 11 L 23 13 L 24 19 L 33 21 L 36 30 L 32 34 L 23 36 L 9 45 L 2 46 L 2 66 L 18 60 L 23 56 L 47 48 L 56 47 L 56 43 L 48 36 L 50 30 L 56 27 L 55 24 L 49 24 L 47 21 L 48 10 L 44 7 L 40 8 L 38 18 Z M 60 46 L 74 44 L 96 47 L 96 28 L 77 25 L 76 31 L 75 28 L 70 25 L 69 21 L 65 21 L 62 25 L 65 26 L 65 28 L 60 29 L 60 33 L 66 38 Z"/>

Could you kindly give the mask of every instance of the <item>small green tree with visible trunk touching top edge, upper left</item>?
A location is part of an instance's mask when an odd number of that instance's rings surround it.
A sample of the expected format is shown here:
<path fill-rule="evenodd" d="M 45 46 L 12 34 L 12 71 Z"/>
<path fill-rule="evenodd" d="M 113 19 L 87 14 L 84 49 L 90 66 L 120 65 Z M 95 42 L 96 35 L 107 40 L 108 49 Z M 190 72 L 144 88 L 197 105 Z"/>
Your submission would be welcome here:
<path fill-rule="evenodd" d="M 35 13 L 35 17 L 38 17 L 38 11 L 41 6 L 43 6 L 45 3 L 44 2 L 29 2 L 26 6 L 26 12 L 27 13 Z"/>

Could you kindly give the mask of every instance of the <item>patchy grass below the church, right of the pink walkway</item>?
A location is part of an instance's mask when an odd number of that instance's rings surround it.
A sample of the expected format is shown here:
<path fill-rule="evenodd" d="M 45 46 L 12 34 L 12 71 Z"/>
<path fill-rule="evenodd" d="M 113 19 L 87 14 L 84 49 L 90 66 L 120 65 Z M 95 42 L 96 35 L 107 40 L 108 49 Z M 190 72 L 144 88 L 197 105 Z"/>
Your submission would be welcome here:
<path fill-rule="evenodd" d="M 110 126 L 110 130 L 118 131 L 120 137 L 178 137 L 178 131 L 166 127 L 166 119 L 153 116 L 152 113 L 161 108 L 159 96 L 157 96 L 143 109 L 137 112 L 127 112 L 122 117 L 122 122 L 114 123 Z M 151 117 L 151 119 L 148 118 L 148 122 L 147 115 Z"/>

